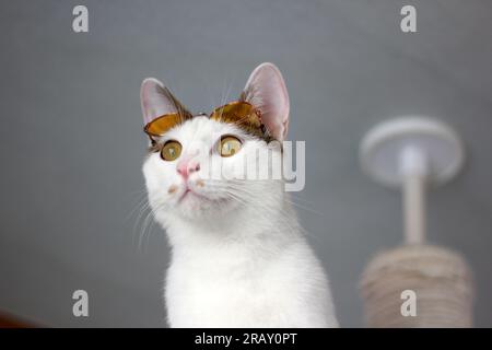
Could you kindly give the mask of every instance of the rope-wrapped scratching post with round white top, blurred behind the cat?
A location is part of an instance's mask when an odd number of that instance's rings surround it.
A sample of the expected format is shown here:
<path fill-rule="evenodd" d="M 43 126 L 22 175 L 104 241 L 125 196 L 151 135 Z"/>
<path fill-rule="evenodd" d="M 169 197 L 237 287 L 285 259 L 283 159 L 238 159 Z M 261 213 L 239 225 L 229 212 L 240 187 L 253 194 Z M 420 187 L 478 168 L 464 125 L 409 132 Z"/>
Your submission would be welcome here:
<path fill-rule="evenodd" d="M 361 163 L 375 180 L 401 188 L 405 244 L 379 253 L 361 278 L 368 327 L 471 327 L 472 277 L 465 259 L 425 241 L 425 191 L 462 167 L 464 148 L 437 120 L 407 117 L 365 136 Z"/>

